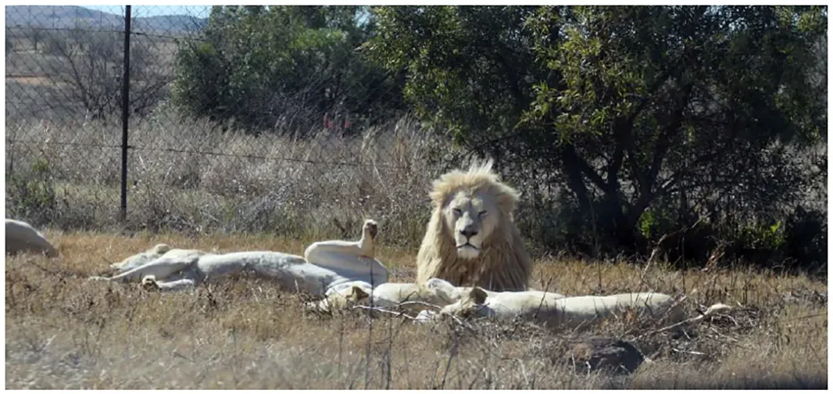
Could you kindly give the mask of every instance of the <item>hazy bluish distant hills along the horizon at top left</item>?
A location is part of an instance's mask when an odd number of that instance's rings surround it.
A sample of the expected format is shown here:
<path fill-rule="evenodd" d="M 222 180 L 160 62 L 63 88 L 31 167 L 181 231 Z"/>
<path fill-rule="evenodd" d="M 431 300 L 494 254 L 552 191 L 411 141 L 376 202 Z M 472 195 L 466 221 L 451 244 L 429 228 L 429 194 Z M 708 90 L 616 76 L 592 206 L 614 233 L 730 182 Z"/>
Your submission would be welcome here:
<path fill-rule="evenodd" d="M 206 22 L 204 17 L 188 15 L 133 17 L 131 30 L 148 33 L 197 32 Z M 77 6 L 6 6 L 6 27 L 71 28 L 79 24 L 93 28 L 121 28 L 124 17 Z"/>

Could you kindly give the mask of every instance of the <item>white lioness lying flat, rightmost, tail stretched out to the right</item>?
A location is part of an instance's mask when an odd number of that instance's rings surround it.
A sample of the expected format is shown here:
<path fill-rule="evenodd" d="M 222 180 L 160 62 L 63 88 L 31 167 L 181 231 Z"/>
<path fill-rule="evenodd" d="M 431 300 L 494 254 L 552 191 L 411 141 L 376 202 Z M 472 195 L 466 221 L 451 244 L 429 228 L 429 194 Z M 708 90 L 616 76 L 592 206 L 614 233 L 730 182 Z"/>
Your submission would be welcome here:
<path fill-rule="evenodd" d="M 618 315 L 626 309 L 635 309 L 640 318 L 651 318 L 657 322 L 676 324 L 686 321 L 682 306 L 674 297 L 656 292 L 623 293 L 611 296 L 579 297 L 541 297 L 533 292 L 487 293 L 480 287 L 471 289 L 466 297 L 461 297 L 439 313 L 420 312 L 421 320 L 444 315 L 455 317 L 491 317 L 499 320 L 511 320 L 520 317 L 524 320 L 538 321 L 548 327 L 583 328 L 591 322 Z M 689 324 L 700 322 L 718 312 L 726 312 L 731 307 L 716 304 L 699 317 L 689 319 Z"/>

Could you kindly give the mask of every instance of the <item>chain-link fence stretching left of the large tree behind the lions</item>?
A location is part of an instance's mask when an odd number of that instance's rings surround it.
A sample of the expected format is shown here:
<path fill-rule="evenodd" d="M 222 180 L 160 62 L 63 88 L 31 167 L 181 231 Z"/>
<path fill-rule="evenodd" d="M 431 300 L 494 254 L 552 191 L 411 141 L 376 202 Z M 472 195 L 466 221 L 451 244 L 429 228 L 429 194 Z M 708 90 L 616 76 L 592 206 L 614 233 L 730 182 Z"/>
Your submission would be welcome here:
<path fill-rule="evenodd" d="M 130 7 L 126 98 L 127 7 L 6 7 L 7 217 L 299 237 L 352 237 L 373 217 L 414 242 L 444 169 L 426 163 L 451 151 L 351 47 L 361 11 L 287 7 L 303 26 L 266 29 L 262 7 L 225 8 L 209 24 L 212 7 Z"/>

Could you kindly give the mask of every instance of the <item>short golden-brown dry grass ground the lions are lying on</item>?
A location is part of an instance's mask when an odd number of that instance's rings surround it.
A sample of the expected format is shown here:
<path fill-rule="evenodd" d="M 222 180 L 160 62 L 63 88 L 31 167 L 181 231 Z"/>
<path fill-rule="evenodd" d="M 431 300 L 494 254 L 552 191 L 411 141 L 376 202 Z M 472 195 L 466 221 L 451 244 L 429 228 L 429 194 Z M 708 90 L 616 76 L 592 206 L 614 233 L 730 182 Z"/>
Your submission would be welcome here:
<path fill-rule="evenodd" d="M 380 223 L 384 228 L 385 223 Z M 87 282 L 157 242 L 219 251 L 301 253 L 271 235 L 183 237 L 47 231 L 62 257 L 6 260 L 6 388 L 826 388 L 827 286 L 745 270 L 536 261 L 533 285 L 566 294 L 685 292 L 689 311 L 725 302 L 730 317 L 690 337 L 611 322 L 582 336 L 632 341 L 636 373 L 586 372 L 569 332 L 529 323 L 415 325 L 402 317 L 304 312 L 301 295 L 238 277 L 193 293 Z M 383 247 L 392 280 L 412 280 L 416 251 Z"/>

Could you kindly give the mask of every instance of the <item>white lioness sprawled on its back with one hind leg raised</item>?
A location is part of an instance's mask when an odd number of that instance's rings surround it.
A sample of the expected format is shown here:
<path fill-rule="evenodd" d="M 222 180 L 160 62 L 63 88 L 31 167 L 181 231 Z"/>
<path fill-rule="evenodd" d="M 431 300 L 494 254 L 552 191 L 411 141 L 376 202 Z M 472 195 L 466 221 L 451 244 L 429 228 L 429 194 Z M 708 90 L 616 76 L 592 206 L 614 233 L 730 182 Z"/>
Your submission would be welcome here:
<path fill-rule="evenodd" d="M 276 280 L 282 287 L 292 291 L 323 295 L 331 287 L 343 283 L 387 282 L 387 268 L 373 258 L 377 232 L 377 223 L 367 220 L 362 227 L 362 239 L 358 242 L 316 242 L 307 248 L 307 259 L 282 252 L 214 254 L 169 249 L 161 257 L 141 264 L 147 254 L 153 253 L 152 249 L 145 252 L 145 257 L 140 254 L 133 260 L 128 258 L 120 265 L 132 267 L 137 264 L 139 267 L 127 269 L 114 277 L 94 279 L 122 282 L 141 280 L 143 286 L 178 290 L 214 281 L 229 273 L 251 272 L 258 277 Z"/>

